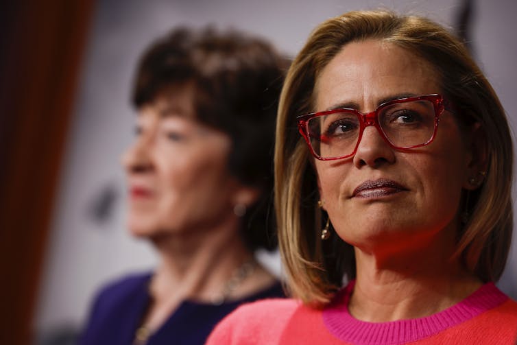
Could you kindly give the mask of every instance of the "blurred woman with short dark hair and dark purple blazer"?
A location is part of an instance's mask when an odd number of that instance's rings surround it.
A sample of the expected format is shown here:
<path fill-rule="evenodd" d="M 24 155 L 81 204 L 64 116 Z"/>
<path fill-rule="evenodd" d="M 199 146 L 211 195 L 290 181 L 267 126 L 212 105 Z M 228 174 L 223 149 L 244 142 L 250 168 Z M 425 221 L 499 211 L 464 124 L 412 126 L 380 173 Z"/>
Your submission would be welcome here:
<path fill-rule="evenodd" d="M 239 32 L 176 29 L 139 64 L 123 156 L 128 226 L 154 272 L 101 290 L 82 344 L 204 344 L 243 302 L 283 296 L 255 259 L 276 247 L 272 154 L 285 61 Z"/>

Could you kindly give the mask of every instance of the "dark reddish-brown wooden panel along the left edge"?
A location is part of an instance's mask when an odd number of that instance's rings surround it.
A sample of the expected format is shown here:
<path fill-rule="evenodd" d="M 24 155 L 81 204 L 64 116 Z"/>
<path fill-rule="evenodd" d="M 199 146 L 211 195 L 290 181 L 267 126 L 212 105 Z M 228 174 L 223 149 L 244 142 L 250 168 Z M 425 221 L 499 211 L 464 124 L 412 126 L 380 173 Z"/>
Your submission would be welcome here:
<path fill-rule="evenodd" d="M 95 1 L 0 10 L 0 344 L 31 344 L 60 163 Z"/>

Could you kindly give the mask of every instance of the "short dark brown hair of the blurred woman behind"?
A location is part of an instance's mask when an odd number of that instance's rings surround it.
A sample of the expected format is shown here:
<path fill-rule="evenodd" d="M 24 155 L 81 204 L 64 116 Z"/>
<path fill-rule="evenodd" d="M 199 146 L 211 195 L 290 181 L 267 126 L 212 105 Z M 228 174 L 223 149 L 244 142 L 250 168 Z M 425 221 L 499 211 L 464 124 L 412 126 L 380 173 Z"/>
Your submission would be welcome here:
<path fill-rule="evenodd" d="M 267 41 L 213 27 L 173 29 L 143 54 L 132 103 L 141 108 L 171 86 L 193 85 L 195 119 L 228 134 L 230 174 L 263 191 L 242 219 L 251 250 L 276 247 L 272 204 L 274 126 L 287 60 Z"/>

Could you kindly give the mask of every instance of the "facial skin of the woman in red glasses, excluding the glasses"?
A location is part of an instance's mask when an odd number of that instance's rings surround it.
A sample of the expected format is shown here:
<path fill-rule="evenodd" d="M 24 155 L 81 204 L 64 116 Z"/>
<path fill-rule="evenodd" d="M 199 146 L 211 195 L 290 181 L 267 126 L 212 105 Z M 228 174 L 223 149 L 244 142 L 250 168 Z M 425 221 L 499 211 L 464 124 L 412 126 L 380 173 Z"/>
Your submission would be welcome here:
<path fill-rule="evenodd" d="M 389 99 L 440 93 L 437 78 L 429 64 L 400 47 L 349 43 L 320 73 L 315 106 L 371 112 Z M 447 110 L 435 140 L 405 152 L 369 126 L 354 156 L 315 160 L 320 197 L 337 234 L 366 251 L 408 248 L 440 231 L 453 239 L 470 156 Z"/>

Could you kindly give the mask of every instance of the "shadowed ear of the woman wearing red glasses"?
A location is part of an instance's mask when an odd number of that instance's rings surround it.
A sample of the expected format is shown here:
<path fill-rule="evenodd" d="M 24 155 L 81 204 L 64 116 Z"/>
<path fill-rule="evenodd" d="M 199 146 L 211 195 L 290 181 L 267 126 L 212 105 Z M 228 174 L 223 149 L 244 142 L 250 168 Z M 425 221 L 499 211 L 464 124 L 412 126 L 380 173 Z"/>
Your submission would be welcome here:
<path fill-rule="evenodd" d="M 472 125 L 466 137 L 466 145 L 468 158 L 463 187 L 473 191 L 481 186 L 488 169 L 488 141 L 481 123 Z"/>

